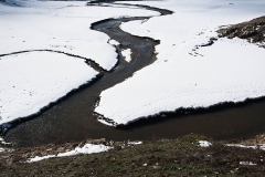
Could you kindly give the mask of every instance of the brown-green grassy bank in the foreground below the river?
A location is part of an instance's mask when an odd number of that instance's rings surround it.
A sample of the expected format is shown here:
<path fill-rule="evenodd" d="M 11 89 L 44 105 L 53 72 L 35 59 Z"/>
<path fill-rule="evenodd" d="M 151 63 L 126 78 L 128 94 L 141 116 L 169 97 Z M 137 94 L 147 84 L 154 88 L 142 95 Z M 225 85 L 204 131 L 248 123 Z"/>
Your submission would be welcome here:
<path fill-rule="evenodd" d="M 200 147 L 199 139 L 206 138 L 191 134 L 178 139 L 149 140 L 144 142 L 142 145 L 125 146 L 125 148 L 121 148 L 121 143 L 116 143 L 115 148 L 107 153 L 50 158 L 31 164 L 23 163 L 22 159 L 26 153 L 30 154 L 38 148 L 15 149 L 17 153 L 0 154 L 2 158 L 0 176 L 263 176 L 265 174 L 264 150 L 227 147 L 219 142 L 210 147 Z M 19 152 L 23 158 L 19 157 Z M 4 163 L 4 156 L 11 158 L 7 158 Z M 242 165 L 242 162 L 255 165 Z"/>

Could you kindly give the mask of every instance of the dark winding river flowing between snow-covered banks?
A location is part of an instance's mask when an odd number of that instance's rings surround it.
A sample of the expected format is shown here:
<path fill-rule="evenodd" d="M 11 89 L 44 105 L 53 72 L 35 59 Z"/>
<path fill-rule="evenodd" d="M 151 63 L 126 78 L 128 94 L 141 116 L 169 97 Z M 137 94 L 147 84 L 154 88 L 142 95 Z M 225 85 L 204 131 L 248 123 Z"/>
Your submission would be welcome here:
<path fill-rule="evenodd" d="M 137 54 L 131 63 L 120 60 L 112 73 L 105 73 L 94 84 L 68 96 L 34 119 L 10 129 L 6 138 L 18 146 L 35 146 L 102 137 L 113 140 L 176 138 L 189 133 L 227 139 L 265 131 L 265 101 L 188 115 L 171 114 L 168 117 L 161 115 L 153 121 L 141 121 L 123 129 L 98 123 L 93 116 L 93 111 L 100 92 L 123 82 L 134 72 L 155 61 L 153 46 L 158 41 L 123 32 L 118 25 L 121 21 L 135 19 L 106 20 L 95 23 L 93 29 L 107 33 L 124 46 L 134 48 Z"/>

